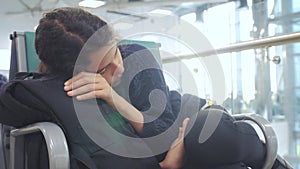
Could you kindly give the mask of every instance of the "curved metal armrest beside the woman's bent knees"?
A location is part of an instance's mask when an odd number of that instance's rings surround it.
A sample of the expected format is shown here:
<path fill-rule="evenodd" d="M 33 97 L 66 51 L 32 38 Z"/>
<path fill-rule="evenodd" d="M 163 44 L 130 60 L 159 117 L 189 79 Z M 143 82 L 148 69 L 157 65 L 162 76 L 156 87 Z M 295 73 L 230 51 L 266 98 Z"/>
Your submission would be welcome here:
<path fill-rule="evenodd" d="M 262 130 L 266 141 L 266 161 L 263 169 L 271 169 L 277 157 L 277 138 L 269 121 L 258 114 L 236 114 L 236 120 L 252 121 Z"/>

